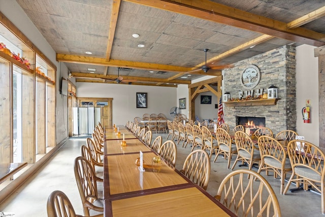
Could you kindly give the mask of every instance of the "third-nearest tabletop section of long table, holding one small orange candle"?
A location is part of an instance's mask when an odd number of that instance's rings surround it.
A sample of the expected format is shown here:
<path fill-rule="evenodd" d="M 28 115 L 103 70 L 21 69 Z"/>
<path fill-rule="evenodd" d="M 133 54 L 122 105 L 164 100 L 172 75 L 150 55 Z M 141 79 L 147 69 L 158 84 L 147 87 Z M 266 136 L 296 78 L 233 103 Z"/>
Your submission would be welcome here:
<path fill-rule="evenodd" d="M 139 139 L 126 139 L 126 146 L 121 146 L 123 140 L 108 140 L 104 143 L 104 154 L 123 154 L 123 153 L 137 153 L 139 151 L 152 151 L 148 146 L 143 144 Z"/>

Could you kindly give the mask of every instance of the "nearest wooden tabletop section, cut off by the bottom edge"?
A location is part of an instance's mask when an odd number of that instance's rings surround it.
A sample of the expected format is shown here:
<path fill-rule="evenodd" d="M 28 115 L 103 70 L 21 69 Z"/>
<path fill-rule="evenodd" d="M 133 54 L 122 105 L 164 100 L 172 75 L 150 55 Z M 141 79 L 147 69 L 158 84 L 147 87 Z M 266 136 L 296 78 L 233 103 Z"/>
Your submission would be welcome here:
<path fill-rule="evenodd" d="M 224 208 L 224 210 L 223 210 Z M 105 199 L 105 216 L 236 216 L 200 187 Z"/>

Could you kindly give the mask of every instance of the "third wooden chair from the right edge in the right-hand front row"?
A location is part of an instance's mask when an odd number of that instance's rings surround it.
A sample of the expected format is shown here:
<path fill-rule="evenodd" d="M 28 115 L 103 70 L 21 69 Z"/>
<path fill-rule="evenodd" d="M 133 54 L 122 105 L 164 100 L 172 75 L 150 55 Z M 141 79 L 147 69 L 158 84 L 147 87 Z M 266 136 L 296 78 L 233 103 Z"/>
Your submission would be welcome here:
<path fill-rule="evenodd" d="M 242 131 L 237 131 L 235 133 L 235 143 L 237 147 L 237 158 L 232 170 L 235 168 L 238 161 L 246 162 L 249 170 L 252 169 L 254 162 L 261 161 L 261 154 L 254 146 L 254 143 L 248 134 Z"/>

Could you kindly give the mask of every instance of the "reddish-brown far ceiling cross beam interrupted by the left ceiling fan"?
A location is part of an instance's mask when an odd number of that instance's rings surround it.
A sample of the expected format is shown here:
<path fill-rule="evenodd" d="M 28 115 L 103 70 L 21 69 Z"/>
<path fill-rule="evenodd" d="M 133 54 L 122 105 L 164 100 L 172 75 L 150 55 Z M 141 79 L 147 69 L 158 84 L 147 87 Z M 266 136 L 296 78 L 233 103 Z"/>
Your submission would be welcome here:
<path fill-rule="evenodd" d="M 98 79 L 115 79 L 116 75 L 102 75 L 102 74 L 92 74 L 83 72 L 71 72 L 71 75 L 76 78 L 98 78 Z M 168 80 L 161 78 L 148 78 L 148 77 L 136 77 L 136 76 L 122 76 L 125 80 L 137 80 L 137 81 L 148 81 L 148 82 L 162 82 L 162 83 L 176 83 L 176 84 L 190 84 L 191 81 L 187 80 Z"/>

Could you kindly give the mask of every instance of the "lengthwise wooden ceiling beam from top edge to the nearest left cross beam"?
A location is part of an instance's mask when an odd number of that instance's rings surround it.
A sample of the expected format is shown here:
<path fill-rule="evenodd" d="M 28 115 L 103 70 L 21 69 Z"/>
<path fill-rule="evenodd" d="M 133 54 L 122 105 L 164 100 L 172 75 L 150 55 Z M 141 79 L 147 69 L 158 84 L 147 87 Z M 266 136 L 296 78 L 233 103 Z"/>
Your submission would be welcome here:
<path fill-rule="evenodd" d="M 120 5 L 121 5 L 121 0 L 114 0 L 112 3 L 111 20 L 110 20 L 110 27 L 108 30 L 108 42 L 106 48 L 106 61 L 109 61 L 111 58 L 113 40 L 115 36 L 115 29 L 116 29 L 116 23 L 118 18 L 118 12 L 120 10 Z"/>

